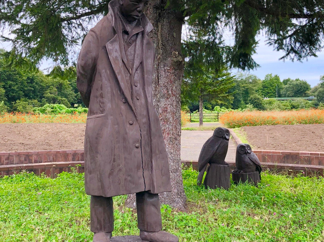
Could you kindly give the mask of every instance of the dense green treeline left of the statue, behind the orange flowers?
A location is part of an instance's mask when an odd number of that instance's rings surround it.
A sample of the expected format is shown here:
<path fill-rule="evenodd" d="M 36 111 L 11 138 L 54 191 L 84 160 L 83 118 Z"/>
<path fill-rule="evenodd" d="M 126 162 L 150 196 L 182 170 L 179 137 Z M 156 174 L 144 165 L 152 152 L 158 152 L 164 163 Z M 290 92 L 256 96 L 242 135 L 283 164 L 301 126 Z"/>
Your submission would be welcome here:
<path fill-rule="evenodd" d="M 18 65 L 0 49 L 0 112 L 29 113 L 46 104 L 67 108 L 83 105 L 76 87 L 75 67 L 55 67 L 45 75 L 28 60 Z"/>

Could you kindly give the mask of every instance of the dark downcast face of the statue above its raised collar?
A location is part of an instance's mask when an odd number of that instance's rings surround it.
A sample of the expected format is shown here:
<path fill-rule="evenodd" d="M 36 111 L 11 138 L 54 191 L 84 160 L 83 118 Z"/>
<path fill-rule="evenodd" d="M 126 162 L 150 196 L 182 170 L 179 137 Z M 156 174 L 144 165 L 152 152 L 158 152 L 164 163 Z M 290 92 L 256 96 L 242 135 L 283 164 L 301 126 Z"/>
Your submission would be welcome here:
<path fill-rule="evenodd" d="M 148 0 L 119 0 L 119 3 L 121 14 L 132 23 L 142 15 Z"/>

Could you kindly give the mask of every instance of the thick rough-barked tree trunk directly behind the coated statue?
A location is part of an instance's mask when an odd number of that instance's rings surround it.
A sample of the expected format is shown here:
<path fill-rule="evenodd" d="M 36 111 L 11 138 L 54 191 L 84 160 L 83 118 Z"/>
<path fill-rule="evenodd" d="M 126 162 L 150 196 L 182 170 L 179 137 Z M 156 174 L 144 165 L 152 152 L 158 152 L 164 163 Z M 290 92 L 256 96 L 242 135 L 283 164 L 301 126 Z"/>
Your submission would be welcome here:
<path fill-rule="evenodd" d="M 151 0 L 145 11 L 145 15 L 154 26 L 150 34 L 156 48 L 153 102 L 160 117 L 168 152 L 172 188 L 170 193 L 160 193 L 159 197 L 160 203 L 185 210 L 186 195 L 183 189 L 180 159 L 180 87 L 184 71 L 181 29 L 184 18 L 182 13 L 166 9 L 166 4 L 167 0 Z M 126 204 L 130 204 L 130 201 Z"/>

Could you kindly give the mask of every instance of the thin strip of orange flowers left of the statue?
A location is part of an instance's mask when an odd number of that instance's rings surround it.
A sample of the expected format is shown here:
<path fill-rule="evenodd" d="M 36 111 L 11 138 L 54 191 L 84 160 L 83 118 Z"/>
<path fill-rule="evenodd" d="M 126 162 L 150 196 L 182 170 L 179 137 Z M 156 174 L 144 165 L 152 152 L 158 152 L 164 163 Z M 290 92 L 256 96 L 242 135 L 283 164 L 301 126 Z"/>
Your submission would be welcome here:
<path fill-rule="evenodd" d="M 87 114 L 0 114 L 0 124 L 12 123 L 86 123 Z"/>

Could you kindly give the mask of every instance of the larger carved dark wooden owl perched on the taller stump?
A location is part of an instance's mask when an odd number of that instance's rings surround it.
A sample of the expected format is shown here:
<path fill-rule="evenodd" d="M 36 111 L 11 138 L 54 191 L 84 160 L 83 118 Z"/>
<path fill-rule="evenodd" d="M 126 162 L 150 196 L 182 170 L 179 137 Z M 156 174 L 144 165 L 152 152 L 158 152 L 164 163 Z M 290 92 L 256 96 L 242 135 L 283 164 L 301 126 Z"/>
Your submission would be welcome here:
<path fill-rule="evenodd" d="M 207 139 L 207 141 L 204 143 L 198 159 L 198 186 L 202 183 L 203 174 L 208 163 L 228 165 L 225 162 L 225 157 L 228 149 L 228 140 L 229 130 L 223 127 L 218 127 L 214 130 L 213 136 Z"/>

